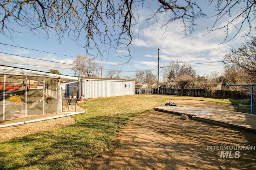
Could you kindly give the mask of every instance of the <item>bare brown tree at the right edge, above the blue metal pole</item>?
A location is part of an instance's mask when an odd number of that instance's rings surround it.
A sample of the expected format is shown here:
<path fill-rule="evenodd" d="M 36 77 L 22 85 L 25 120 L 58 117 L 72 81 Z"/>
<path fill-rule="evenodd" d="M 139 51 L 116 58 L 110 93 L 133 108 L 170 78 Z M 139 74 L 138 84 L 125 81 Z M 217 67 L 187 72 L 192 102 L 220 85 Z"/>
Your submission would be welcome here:
<path fill-rule="evenodd" d="M 222 62 L 227 68 L 239 70 L 238 74 L 243 73 L 243 80 L 247 84 L 256 83 L 256 37 L 246 41 L 240 48 L 231 49 L 230 53 L 224 55 Z"/>

